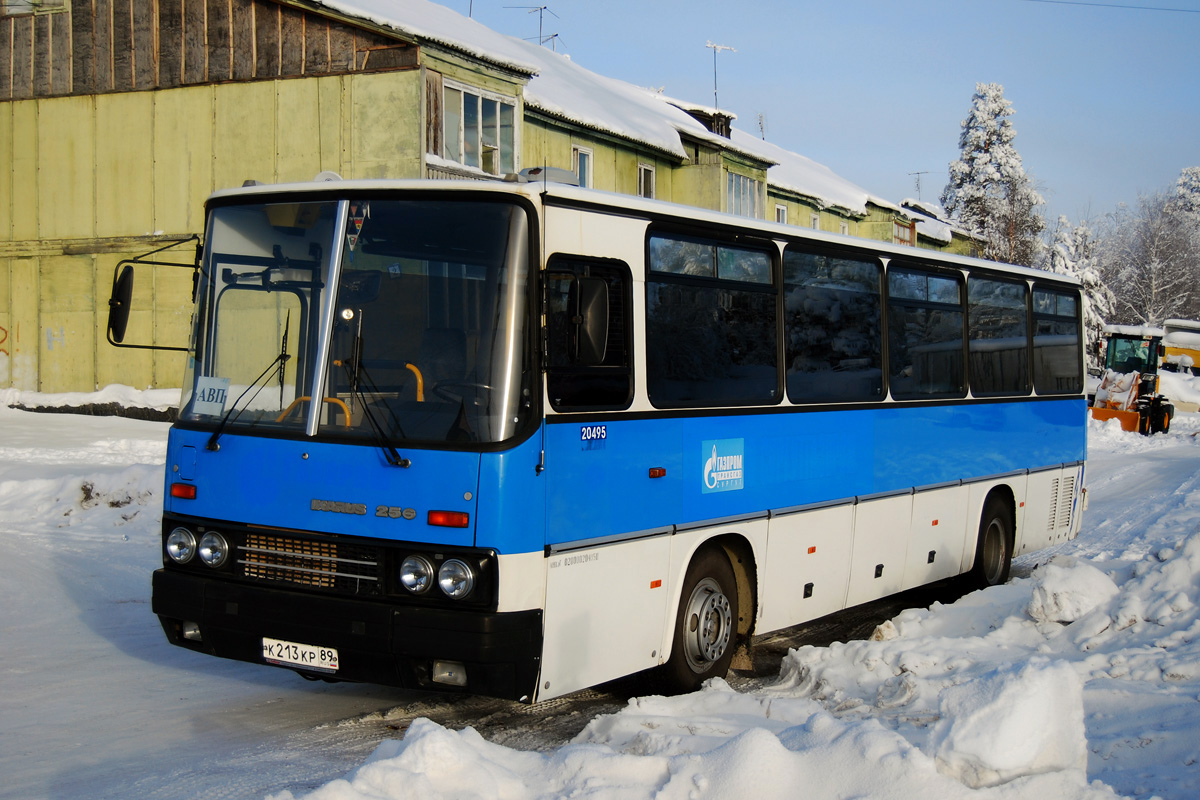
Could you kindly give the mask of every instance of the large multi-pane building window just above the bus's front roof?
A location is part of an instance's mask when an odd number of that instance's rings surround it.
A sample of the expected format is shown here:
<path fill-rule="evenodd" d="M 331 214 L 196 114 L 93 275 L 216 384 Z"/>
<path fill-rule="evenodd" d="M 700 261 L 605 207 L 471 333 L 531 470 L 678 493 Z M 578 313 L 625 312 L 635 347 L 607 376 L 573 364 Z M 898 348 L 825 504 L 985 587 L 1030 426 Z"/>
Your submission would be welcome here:
<path fill-rule="evenodd" d="M 442 101 L 442 142 L 430 139 L 433 155 L 492 175 L 517 170 L 514 98 L 444 80 Z"/>

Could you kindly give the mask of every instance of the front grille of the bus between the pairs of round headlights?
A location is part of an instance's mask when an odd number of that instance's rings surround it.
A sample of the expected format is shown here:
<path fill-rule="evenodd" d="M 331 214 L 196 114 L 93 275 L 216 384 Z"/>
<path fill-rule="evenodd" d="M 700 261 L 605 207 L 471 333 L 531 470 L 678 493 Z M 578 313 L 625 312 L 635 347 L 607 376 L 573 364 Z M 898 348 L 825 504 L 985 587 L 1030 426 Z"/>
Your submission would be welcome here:
<path fill-rule="evenodd" d="M 348 595 L 378 595 L 383 552 L 376 547 L 247 534 L 238 547 L 245 578 Z"/>

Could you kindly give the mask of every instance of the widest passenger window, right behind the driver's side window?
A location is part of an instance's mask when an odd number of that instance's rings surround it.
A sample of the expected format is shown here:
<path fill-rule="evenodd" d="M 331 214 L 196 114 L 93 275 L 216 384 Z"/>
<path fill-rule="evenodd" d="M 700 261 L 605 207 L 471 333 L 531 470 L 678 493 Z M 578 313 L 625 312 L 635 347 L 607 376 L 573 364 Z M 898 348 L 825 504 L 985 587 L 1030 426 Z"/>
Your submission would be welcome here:
<path fill-rule="evenodd" d="M 766 249 L 653 235 L 647 392 L 659 408 L 779 402 L 778 293 Z"/>

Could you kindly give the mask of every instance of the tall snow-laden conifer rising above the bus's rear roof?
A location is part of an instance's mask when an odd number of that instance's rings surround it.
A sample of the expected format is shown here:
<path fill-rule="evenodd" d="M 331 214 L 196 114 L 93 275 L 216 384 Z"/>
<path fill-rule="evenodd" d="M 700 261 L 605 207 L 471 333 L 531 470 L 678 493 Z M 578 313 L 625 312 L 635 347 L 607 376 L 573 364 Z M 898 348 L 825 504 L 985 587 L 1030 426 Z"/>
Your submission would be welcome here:
<path fill-rule="evenodd" d="M 1004 98 L 1002 85 L 976 84 L 942 206 L 984 240 L 985 258 L 1032 265 L 1042 247 L 1045 219 L 1038 209 L 1045 200 L 1025 174 L 1013 145 L 1016 130 L 1012 114 L 1013 104 Z"/>

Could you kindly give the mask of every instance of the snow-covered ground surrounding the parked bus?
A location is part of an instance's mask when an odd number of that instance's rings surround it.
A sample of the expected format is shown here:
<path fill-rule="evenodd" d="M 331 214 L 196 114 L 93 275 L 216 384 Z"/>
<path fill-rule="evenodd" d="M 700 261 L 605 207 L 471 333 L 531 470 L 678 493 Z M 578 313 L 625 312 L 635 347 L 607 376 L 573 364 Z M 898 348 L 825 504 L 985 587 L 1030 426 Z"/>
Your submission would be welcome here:
<path fill-rule="evenodd" d="M 1200 416 L 1092 423 L 1082 534 L 1008 585 L 522 751 L 167 645 L 166 425 L 17 402 L 80 399 L 0 392 L 0 796 L 1200 796 Z"/>

